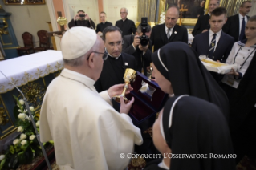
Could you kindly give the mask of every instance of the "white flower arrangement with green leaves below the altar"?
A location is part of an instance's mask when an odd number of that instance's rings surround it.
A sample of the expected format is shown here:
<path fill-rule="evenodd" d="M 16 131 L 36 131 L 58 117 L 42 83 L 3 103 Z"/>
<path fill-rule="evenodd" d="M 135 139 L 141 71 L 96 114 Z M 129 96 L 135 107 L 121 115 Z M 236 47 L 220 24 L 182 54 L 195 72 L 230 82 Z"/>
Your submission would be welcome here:
<path fill-rule="evenodd" d="M 39 115 L 35 114 L 34 107 L 30 107 L 30 115 L 26 110 L 24 100 L 18 99 L 16 96 L 14 96 L 14 99 L 17 102 L 17 107 L 14 107 L 15 125 L 18 127 L 17 131 L 22 132 L 22 134 L 13 141 L 13 144 L 10 144 L 9 151 L 6 151 L 6 154 L 0 156 L 0 170 L 2 168 L 15 169 L 18 164 L 30 164 L 35 156 L 41 156 L 42 154 L 39 141 L 35 136 L 35 128 L 31 123 L 34 120 L 39 131 Z M 49 142 L 53 144 L 53 141 Z"/>

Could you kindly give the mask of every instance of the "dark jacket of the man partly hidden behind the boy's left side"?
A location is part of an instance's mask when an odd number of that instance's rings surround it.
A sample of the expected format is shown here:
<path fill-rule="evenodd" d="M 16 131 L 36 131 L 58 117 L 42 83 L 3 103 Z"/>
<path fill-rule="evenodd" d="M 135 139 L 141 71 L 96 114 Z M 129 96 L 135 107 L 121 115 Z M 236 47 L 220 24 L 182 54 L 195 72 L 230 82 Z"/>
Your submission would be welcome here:
<path fill-rule="evenodd" d="M 193 28 L 192 34 L 196 36 L 197 34 L 201 34 L 203 30 L 209 30 L 209 14 L 205 14 L 197 19 L 197 23 Z"/>

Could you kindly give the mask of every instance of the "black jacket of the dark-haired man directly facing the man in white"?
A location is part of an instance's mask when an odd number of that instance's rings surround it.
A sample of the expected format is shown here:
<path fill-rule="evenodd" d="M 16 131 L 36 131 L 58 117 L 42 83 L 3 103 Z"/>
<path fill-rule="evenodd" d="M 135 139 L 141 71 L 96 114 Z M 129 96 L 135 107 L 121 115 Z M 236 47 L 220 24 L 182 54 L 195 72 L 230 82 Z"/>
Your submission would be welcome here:
<path fill-rule="evenodd" d="M 132 68 L 135 70 L 135 58 L 132 55 L 122 53 L 120 56 L 123 59 L 123 70 Z M 109 58 L 109 57 L 108 57 Z M 128 64 L 125 64 L 128 63 Z M 123 72 L 123 75 L 124 75 Z M 100 74 L 100 78 L 95 83 L 96 90 L 100 93 L 101 91 L 108 90 L 109 87 L 112 87 L 115 84 L 124 83 L 124 79 L 118 79 L 116 76 L 115 70 L 112 67 L 112 64 L 109 62 L 109 59 L 104 61 L 103 69 Z"/>

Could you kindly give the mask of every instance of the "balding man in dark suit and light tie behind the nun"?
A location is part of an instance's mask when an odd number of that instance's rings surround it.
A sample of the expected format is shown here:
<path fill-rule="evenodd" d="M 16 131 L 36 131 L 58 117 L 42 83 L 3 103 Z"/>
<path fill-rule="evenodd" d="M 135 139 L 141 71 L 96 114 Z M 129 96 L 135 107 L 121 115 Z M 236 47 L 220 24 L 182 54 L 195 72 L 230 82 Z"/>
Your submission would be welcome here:
<path fill-rule="evenodd" d="M 185 27 L 176 25 L 180 10 L 177 6 L 171 5 L 165 14 L 165 23 L 154 26 L 150 39 L 154 51 L 165 46 L 169 42 L 188 43 L 188 30 Z"/>

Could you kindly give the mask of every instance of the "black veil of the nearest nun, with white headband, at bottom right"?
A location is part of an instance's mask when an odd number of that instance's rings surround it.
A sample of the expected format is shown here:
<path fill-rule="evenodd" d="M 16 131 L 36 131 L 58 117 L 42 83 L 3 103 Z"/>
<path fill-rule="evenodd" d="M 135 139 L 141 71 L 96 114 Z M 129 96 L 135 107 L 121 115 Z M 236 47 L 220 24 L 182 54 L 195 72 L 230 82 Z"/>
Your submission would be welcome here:
<path fill-rule="evenodd" d="M 171 115 L 171 107 L 178 97 L 170 98 L 165 104 L 162 115 L 165 140 L 173 155 L 206 154 L 207 158 L 173 158 L 170 169 L 235 169 L 229 127 L 219 107 L 203 99 L 184 96 L 175 103 Z M 169 128 L 170 116 L 173 117 Z M 211 153 L 213 157 L 210 158 Z M 230 154 L 234 157 L 217 159 L 214 154 Z"/>

